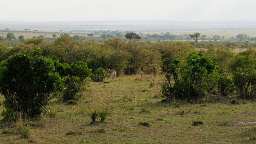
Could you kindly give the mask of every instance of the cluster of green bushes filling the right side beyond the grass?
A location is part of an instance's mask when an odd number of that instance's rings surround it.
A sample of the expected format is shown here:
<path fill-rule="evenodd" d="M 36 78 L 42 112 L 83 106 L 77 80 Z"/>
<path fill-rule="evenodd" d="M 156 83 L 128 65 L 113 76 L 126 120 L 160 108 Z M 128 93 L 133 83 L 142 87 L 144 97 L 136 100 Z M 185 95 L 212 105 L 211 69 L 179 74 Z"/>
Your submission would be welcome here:
<path fill-rule="evenodd" d="M 223 96 L 255 98 L 255 52 L 248 49 L 234 54 L 227 48 L 202 51 L 210 58 L 202 53 L 190 52 L 184 66 L 175 58 L 166 74 L 168 83 L 162 85 L 162 96 L 169 100 L 194 99 L 218 92 Z"/>

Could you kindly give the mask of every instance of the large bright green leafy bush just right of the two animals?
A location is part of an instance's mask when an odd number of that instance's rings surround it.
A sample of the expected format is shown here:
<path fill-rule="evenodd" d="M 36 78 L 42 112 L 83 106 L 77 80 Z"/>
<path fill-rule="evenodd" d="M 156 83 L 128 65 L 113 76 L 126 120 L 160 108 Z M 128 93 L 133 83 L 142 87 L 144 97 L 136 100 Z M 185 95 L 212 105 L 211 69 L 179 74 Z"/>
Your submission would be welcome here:
<path fill-rule="evenodd" d="M 162 97 L 169 100 L 175 98 L 198 98 L 204 92 L 211 92 L 217 86 L 218 67 L 210 58 L 197 52 L 190 52 L 187 56 L 186 66 L 181 67 L 179 59 L 174 59 L 166 79 L 169 83 L 162 85 Z M 174 84 L 171 84 L 171 77 Z"/>

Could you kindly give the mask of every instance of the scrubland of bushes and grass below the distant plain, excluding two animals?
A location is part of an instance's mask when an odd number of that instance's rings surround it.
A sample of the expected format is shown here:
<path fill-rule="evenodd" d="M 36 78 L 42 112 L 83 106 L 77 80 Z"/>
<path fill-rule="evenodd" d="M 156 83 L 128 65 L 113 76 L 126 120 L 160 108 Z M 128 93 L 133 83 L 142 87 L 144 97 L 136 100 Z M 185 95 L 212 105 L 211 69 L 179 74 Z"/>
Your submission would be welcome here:
<path fill-rule="evenodd" d="M 100 43 L 66 34 L 47 43 L 0 44 L 0 140 L 254 143 L 254 48 L 253 42 Z M 153 66 L 155 77 L 140 78 L 139 70 Z M 114 81 L 106 68 L 116 70 Z"/>

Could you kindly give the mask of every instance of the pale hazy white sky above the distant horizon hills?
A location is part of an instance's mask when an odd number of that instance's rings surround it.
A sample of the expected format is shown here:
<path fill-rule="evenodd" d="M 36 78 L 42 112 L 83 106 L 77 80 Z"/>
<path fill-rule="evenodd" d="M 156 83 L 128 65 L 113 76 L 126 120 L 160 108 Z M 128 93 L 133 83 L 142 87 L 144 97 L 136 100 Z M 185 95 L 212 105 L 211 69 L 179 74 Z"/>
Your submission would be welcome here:
<path fill-rule="evenodd" d="M 256 0 L 3 0 L 0 21 L 256 20 Z"/>

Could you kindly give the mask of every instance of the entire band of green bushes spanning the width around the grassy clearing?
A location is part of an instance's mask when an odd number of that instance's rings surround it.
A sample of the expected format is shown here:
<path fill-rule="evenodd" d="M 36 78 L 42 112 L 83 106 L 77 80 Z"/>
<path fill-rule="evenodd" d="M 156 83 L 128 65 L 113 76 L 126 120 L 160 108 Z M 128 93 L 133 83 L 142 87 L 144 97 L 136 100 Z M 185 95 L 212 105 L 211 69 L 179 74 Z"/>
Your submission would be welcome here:
<path fill-rule="evenodd" d="M 207 49 L 196 52 L 198 47 Z M 230 49 L 240 47 L 252 48 L 238 53 Z M 0 44 L 0 90 L 7 109 L 2 115 L 8 120 L 13 119 L 13 112 L 22 111 L 36 117 L 53 96 L 78 99 L 86 79 L 103 81 L 106 68 L 118 75 L 156 66 L 156 72 L 166 74 L 168 83 L 162 86 L 162 96 L 168 99 L 192 99 L 217 92 L 255 98 L 253 47 L 248 42 L 152 43 L 125 42 L 122 38 L 78 42 L 67 34 L 52 43 L 31 38 L 13 48 Z"/>

